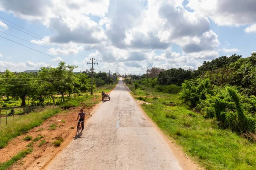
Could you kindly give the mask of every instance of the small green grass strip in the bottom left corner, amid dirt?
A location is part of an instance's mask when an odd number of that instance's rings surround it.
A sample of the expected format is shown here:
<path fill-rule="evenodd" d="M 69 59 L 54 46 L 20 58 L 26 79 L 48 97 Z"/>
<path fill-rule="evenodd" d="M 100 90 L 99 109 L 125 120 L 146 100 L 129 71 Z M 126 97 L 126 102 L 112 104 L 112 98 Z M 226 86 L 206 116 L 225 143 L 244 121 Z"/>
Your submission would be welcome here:
<path fill-rule="evenodd" d="M 13 156 L 12 159 L 9 161 L 0 163 L 0 170 L 7 170 L 9 167 L 11 167 L 13 164 L 15 164 L 18 160 L 26 157 L 27 154 L 31 153 L 33 148 L 28 148 L 26 150 L 23 150 L 19 153 L 17 153 L 16 156 Z"/>

